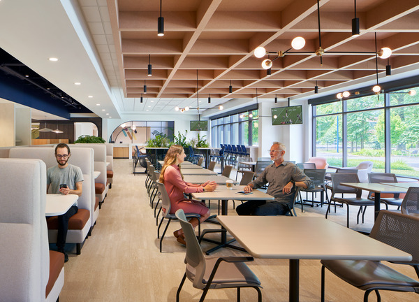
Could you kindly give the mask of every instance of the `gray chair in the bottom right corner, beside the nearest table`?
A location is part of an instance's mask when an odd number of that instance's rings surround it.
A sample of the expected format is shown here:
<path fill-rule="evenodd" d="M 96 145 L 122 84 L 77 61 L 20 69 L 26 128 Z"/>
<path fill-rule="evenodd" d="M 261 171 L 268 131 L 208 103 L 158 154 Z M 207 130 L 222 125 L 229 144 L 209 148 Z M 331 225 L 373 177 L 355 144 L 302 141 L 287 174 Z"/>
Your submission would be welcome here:
<path fill-rule="evenodd" d="M 395 211 L 381 210 L 378 213 L 370 237 L 396 247 L 412 255 L 408 264 L 415 268 L 419 278 L 419 217 L 403 215 Z M 370 260 L 322 260 L 321 301 L 325 301 L 325 268 L 358 289 L 365 290 L 364 301 L 374 291 L 381 301 L 379 290 L 419 293 L 419 282 L 380 261 Z"/>

